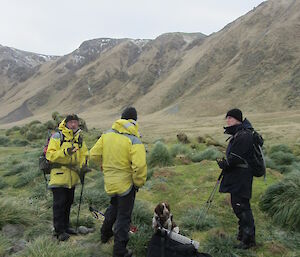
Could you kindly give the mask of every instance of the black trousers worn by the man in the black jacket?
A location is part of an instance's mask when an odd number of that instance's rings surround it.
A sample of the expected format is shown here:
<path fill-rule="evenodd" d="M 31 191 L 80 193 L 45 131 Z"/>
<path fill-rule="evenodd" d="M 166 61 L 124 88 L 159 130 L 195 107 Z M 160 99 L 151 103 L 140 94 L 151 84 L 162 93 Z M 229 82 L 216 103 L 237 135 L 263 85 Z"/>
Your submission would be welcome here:
<path fill-rule="evenodd" d="M 239 219 L 239 235 L 242 242 L 249 244 L 255 241 L 255 225 L 250 199 L 231 194 L 231 206 Z"/>

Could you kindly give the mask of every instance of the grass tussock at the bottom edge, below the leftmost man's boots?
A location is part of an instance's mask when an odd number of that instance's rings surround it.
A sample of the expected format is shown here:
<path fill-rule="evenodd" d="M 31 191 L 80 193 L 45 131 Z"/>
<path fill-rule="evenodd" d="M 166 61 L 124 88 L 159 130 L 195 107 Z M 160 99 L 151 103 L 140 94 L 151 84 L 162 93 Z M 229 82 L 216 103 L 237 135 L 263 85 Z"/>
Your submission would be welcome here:
<path fill-rule="evenodd" d="M 88 256 L 87 250 L 75 244 L 59 244 L 57 240 L 42 236 L 28 244 L 21 257 L 81 257 Z"/>

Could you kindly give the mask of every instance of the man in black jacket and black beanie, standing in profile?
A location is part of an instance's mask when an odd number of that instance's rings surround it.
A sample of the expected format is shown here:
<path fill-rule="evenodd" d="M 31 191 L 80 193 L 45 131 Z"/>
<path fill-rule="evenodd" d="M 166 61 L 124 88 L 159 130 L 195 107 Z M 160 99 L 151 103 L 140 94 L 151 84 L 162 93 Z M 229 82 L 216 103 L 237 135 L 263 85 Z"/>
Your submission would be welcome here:
<path fill-rule="evenodd" d="M 231 194 L 231 206 L 238 218 L 240 242 L 237 248 L 248 249 L 256 245 L 255 225 L 250 206 L 252 194 L 252 169 L 248 165 L 253 156 L 253 139 L 251 123 L 243 120 L 239 109 L 232 109 L 226 114 L 225 134 L 231 135 L 226 149 L 226 159 L 218 160 L 223 179 L 220 192 Z"/>

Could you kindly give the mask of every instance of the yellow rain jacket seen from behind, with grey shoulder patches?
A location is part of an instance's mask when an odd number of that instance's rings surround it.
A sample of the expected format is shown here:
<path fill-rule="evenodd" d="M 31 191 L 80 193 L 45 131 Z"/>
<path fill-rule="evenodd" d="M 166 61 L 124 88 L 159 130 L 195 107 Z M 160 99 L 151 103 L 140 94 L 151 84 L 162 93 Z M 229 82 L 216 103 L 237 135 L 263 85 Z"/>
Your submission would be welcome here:
<path fill-rule="evenodd" d="M 126 195 L 146 182 L 146 151 L 134 120 L 117 120 L 90 151 L 91 161 L 102 162 L 105 191 Z"/>

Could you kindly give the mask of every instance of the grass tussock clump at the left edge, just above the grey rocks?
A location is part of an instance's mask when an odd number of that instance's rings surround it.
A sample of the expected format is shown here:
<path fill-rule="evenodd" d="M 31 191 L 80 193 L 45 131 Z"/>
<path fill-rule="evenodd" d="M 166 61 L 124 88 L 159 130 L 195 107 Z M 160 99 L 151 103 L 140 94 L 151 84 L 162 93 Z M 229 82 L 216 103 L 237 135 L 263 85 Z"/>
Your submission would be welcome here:
<path fill-rule="evenodd" d="M 0 229 L 5 224 L 32 224 L 32 213 L 13 198 L 0 199 Z"/>

